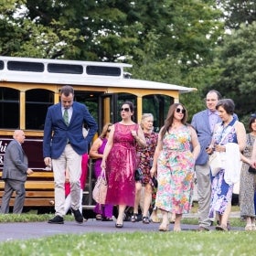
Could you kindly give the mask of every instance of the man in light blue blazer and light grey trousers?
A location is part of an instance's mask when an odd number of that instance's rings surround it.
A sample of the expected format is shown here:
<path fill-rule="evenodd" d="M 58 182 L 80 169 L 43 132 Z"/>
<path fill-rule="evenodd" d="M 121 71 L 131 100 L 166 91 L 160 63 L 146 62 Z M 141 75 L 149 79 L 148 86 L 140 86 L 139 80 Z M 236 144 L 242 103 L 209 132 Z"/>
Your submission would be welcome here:
<path fill-rule="evenodd" d="M 201 146 L 200 155 L 196 161 L 197 176 L 197 197 L 198 197 L 198 230 L 208 230 L 211 220 L 208 218 L 210 195 L 211 195 L 211 178 L 210 168 L 208 165 L 208 154 L 206 148 L 211 143 L 213 129 L 216 123 L 221 122 L 216 105 L 220 100 L 219 91 L 208 91 L 207 94 L 207 110 L 197 112 L 192 118 L 192 126 L 197 131 L 197 137 Z"/>

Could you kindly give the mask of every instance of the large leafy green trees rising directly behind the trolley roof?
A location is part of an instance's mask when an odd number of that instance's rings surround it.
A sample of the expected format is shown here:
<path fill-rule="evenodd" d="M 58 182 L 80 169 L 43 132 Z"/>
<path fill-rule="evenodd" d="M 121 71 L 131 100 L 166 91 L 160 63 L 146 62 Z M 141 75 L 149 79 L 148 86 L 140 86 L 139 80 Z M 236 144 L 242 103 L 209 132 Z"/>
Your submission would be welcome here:
<path fill-rule="evenodd" d="M 214 0 L 2 2 L 1 55 L 129 62 L 133 78 L 197 88 L 181 97 L 191 114 L 219 74 L 209 68 L 224 32 Z"/>

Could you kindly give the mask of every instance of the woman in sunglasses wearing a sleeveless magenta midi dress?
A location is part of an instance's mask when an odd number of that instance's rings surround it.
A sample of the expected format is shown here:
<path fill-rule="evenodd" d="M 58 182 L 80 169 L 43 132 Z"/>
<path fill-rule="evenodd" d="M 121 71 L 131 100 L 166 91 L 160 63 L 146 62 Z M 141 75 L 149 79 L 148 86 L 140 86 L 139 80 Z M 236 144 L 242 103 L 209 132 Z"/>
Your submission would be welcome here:
<path fill-rule="evenodd" d="M 134 205 L 136 144 L 146 145 L 142 128 L 132 120 L 133 112 L 133 103 L 125 101 L 121 108 L 122 121 L 112 125 L 101 162 L 108 180 L 106 204 L 118 206 L 116 228 L 123 228 L 126 206 Z"/>

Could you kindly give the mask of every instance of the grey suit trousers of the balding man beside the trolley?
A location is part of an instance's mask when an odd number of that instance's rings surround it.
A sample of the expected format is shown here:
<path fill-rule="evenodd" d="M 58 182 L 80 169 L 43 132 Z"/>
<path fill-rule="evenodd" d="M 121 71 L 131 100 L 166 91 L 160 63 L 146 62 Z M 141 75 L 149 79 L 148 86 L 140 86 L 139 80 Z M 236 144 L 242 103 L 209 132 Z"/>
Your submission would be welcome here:
<path fill-rule="evenodd" d="M 22 213 L 26 197 L 25 182 L 15 179 L 5 179 L 5 194 L 2 197 L 1 213 L 9 212 L 9 203 L 14 191 L 16 191 L 16 198 L 13 213 Z"/>

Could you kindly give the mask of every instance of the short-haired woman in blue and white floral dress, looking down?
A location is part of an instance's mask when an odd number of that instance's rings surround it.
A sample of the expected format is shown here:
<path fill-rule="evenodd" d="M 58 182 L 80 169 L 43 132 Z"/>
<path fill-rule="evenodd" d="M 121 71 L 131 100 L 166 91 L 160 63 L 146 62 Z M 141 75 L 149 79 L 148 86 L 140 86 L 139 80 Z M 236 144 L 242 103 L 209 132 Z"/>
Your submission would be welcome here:
<path fill-rule="evenodd" d="M 215 150 L 217 152 L 225 152 L 227 155 L 226 149 L 228 144 L 231 146 L 232 144 L 238 144 L 240 152 L 243 151 L 246 145 L 246 131 L 243 123 L 240 123 L 233 116 L 234 102 L 230 99 L 220 100 L 216 109 L 222 122 L 217 123 L 214 128 L 212 143 L 207 149 L 208 154 L 212 154 Z M 240 155 L 237 158 L 233 159 L 233 161 L 237 160 L 239 162 Z M 223 166 L 223 169 L 212 180 L 209 218 L 213 218 L 214 212 L 217 212 L 219 215 L 219 225 L 216 229 L 227 231 L 234 184 L 227 181 L 226 176 L 228 176 L 229 170 L 224 168 Z"/>

